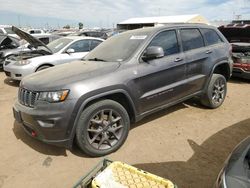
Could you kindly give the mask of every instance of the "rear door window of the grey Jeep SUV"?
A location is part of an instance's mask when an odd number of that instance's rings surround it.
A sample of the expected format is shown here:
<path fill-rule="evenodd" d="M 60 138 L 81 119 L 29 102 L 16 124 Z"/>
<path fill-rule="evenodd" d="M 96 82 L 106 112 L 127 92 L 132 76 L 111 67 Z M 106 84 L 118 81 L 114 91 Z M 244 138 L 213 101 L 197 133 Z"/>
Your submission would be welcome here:
<path fill-rule="evenodd" d="M 183 51 L 193 50 L 204 46 L 204 41 L 198 29 L 180 30 Z"/>

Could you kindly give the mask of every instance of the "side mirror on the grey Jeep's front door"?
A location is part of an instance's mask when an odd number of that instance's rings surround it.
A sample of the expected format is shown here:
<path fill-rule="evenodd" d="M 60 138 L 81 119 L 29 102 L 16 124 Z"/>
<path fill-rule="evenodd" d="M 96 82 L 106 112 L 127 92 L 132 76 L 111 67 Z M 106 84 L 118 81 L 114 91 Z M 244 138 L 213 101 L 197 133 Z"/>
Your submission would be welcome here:
<path fill-rule="evenodd" d="M 152 60 L 152 59 L 158 59 L 161 57 L 164 57 L 164 51 L 163 51 L 162 47 L 150 46 L 145 50 L 145 52 L 142 56 L 142 59 L 144 61 L 148 61 L 148 60 Z"/>

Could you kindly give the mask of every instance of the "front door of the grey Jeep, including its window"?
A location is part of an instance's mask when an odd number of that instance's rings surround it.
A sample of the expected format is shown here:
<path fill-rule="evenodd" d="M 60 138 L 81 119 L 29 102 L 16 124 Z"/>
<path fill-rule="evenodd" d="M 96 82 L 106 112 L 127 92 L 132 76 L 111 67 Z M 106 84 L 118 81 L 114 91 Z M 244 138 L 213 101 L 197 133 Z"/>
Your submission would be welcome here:
<path fill-rule="evenodd" d="M 141 62 L 135 80 L 140 95 L 140 113 L 177 101 L 184 96 L 186 63 L 176 30 L 157 34 L 149 46 L 160 46 L 164 57 Z"/>

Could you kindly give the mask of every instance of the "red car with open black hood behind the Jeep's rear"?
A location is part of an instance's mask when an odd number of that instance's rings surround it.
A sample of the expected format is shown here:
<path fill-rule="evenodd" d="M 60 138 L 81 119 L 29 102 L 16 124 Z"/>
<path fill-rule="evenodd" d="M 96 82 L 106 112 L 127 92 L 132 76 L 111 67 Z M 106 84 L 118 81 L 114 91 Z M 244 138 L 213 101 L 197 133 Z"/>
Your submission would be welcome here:
<path fill-rule="evenodd" d="M 250 24 L 232 23 L 219 30 L 232 44 L 233 76 L 250 79 Z"/>

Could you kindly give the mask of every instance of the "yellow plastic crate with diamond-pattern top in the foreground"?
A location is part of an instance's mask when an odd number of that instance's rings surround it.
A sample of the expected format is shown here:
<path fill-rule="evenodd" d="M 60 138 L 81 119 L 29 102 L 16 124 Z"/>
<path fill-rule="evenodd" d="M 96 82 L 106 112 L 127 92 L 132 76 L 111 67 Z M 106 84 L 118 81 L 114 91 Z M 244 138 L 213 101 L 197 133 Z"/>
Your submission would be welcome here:
<path fill-rule="evenodd" d="M 122 162 L 113 162 L 92 181 L 92 188 L 174 188 L 174 184 L 154 174 Z"/>

